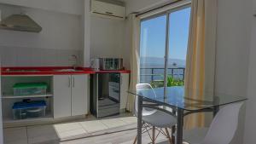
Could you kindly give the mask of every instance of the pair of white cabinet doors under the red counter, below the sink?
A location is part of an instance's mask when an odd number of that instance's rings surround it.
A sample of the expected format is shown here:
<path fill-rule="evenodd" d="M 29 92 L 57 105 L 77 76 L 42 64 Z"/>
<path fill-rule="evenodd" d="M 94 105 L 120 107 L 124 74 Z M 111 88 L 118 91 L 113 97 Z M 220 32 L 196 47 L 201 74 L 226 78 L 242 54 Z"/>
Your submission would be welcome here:
<path fill-rule="evenodd" d="M 88 75 L 54 76 L 54 118 L 87 114 Z"/>

